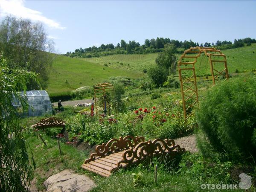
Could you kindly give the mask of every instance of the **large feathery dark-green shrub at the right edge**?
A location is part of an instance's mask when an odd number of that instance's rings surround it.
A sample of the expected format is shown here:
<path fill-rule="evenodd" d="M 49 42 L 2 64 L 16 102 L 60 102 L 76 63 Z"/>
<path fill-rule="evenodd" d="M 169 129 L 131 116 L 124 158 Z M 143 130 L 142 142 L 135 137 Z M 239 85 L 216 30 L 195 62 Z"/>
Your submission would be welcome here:
<path fill-rule="evenodd" d="M 226 152 L 256 157 L 256 79 L 243 76 L 212 87 L 197 110 L 198 147 L 205 156 Z"/>

